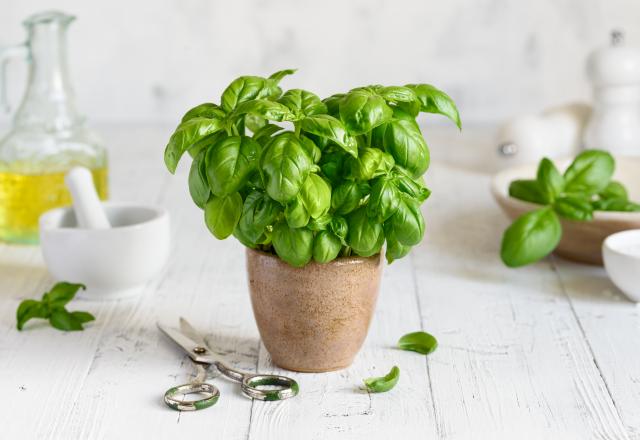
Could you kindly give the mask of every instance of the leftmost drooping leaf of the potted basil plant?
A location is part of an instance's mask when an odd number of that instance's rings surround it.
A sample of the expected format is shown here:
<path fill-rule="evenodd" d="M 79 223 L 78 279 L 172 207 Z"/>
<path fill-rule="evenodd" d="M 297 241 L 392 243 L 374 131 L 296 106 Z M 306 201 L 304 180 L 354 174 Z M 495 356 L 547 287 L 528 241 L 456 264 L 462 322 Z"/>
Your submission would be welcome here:
<path fill-rule="evenodd" d="M 193 118 L 178 125 L 164 150 L 164 163 L 175 173 L 180 158 L 193 144 L 224 128 L 222 119 Z"/>

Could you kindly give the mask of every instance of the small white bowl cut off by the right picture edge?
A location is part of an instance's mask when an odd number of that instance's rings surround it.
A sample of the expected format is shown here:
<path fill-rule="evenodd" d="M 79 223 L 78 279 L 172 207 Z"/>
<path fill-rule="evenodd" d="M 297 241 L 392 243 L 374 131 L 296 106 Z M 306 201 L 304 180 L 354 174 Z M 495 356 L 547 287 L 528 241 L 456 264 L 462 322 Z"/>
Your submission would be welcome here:
<path fill-rule="evenodd" d="M 610 235 L 602 244 L 604 267 L 613 284 L 640 302 L 640 229 Z"/>

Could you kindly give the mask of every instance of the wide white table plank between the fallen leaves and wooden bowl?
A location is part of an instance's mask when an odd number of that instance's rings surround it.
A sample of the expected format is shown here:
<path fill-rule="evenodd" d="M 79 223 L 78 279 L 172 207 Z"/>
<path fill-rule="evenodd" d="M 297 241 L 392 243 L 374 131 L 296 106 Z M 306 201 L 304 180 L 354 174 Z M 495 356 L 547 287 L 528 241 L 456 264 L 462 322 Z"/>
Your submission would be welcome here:
<path fill-rule="evenodd" d="M 628 438 L 549 261 L 510 270 L 488 179 L 431 174 L 414 255 L 440 438 Z"/>

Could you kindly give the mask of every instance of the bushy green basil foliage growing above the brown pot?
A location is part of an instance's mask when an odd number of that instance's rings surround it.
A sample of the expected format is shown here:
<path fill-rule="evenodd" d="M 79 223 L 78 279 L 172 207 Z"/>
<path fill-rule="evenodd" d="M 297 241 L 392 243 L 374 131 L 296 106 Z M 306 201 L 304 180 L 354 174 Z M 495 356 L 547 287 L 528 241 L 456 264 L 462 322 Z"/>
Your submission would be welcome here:
<path fill-rule="evenodd" d="M 193 158 L 189 192 L 218 239 L 272 252 L 292 266 L 339 256 L 389 262 L 418 244 L 429 197 L 429 149 L 416 123 L 438 113 L 460 127 L 455 104 L 428 84 L 358 87 L 326 99 L 283 93 L 280 81 L 242 76 L 219 104 L 189 110 L 164 160 Z"/>

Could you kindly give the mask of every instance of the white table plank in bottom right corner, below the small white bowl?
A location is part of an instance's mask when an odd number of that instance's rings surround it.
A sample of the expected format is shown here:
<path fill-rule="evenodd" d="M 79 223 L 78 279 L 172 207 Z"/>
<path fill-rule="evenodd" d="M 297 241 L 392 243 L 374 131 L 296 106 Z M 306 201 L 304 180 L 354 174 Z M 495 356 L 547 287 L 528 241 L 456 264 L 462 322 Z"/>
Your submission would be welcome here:
<path fill-rule="evenodd" d="M 640 439 L 640 314 L 603 268 L 554 259 L 589 349 L 631 438 Z"/>

